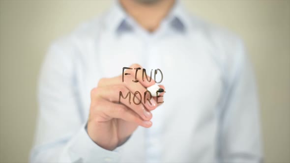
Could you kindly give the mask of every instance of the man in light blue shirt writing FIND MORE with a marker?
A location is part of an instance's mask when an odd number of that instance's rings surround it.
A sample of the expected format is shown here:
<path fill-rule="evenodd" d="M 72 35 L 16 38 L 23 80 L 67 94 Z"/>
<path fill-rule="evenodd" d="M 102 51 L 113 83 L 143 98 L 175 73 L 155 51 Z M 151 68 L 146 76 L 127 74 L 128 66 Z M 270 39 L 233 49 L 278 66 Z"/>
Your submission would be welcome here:
<path fill-rule="evenodd" d="M 143 68 L 160 97 L 143 97 Z M 178 1 L 117 1 L 53 44 L 39 82 L 31 162 L 261 162 L 242 42 Z"/>

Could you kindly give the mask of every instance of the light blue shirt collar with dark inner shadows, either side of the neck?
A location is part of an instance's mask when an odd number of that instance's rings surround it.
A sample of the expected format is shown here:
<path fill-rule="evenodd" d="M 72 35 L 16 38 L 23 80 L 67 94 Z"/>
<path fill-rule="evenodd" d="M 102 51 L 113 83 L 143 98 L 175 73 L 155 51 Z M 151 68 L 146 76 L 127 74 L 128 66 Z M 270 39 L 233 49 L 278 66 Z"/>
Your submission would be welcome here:
<path fill-rule="evenodd" d="M 118 0 L 114 1 L 113 7 L 109 11 L 109 15 L 106 19 L 106 27 L 113 32 L 131 31 L 134 29 L 130 23 L 132 19 L 126 11 L 122 8 Z M 173 8 L 167 17 L 163 20 L 168 26 L 173 29 L 184 32 L 188 27 L 188 17 L 185 13 L 183 6 L 179 0 L 175 1 Z"/>

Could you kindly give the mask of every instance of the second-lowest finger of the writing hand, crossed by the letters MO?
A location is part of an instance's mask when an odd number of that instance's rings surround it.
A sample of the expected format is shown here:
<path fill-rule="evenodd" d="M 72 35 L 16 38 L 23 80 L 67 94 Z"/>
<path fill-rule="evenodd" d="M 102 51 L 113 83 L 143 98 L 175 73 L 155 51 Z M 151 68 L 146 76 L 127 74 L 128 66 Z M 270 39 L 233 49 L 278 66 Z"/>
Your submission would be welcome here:
<path fill-rule="evenodd" d="M 145 109 L 142 104 L 142 99 L 139 96 L 142 96 L 141 93 L 134 95 L 134 93 L 124 85 L 112 85 L 94 88 L 91 91 L 91 102 L 94 103 L 101 97 L 113 103 L 123 104 L 135 111 L 144 120 L 150 120 L 152 114 Z"/>

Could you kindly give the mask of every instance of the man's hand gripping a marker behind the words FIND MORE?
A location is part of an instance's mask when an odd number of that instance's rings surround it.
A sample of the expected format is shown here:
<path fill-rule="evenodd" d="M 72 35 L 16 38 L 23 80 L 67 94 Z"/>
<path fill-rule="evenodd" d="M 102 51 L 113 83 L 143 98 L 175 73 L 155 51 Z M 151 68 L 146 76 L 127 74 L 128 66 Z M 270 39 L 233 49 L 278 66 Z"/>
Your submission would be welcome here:
<path fill-rule="evenodd" d="M 87 122 L 87 133 L 89 137 L 97 143 L 100 147 L 107 150 L 114 150 L 119 144 L 122 144 L 128 136 L 130 136 L 138 126 L 149 128 L 152 126 L 150 119 L 152 118 L 151 110 L 156 109 L 156 97 L 152 97 L 150 102 L 144 102 L 144 92 L 146 87 L 155 84 L 152 79 L 151 82 L 142 80 L 142 71 L 137 73 L 137 80 L 135 80 L 136 70 L 134 68 L 141 67 L 138 64 L 130 66 L 132 70 L 126 70 L 125 73 L 131 75 L 124 76 L 122 82 L 122 75 L 101 79 L 98 86 L 91 90 L 91 104 L 89 110 L 89 118 Z M 159 85 L 164 89 L 164 86 Z M 131 101 L 135 91 L 139 91 L 142 95 L 142 103 L 135 105 L 129 104 L 128 98 L 122 99 L 119 104 L 119 92 L 126 95 L 131 92 Z M 162 96 L 164 94 L 161 93 Z M 150 95 L 146 94 L 146 99 Z M 136 96 L 135 98 L 137 98 Z M 159 97 L 158 101 L 163 101 L 163 97 Z"/>

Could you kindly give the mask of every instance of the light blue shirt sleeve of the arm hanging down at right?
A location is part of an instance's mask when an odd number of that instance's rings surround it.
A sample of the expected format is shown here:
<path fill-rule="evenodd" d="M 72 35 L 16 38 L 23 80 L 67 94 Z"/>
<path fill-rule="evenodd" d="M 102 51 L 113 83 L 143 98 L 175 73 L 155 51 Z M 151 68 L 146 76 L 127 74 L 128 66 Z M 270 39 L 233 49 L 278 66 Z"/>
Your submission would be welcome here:
<path fill-rule="evenodd" d="M 220 114 L 219 159 L 225 163 L 262 162 L 257 88 L 243 44 L 232 53 L 231 71 Z"/>

